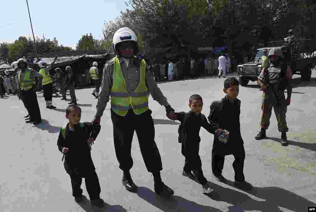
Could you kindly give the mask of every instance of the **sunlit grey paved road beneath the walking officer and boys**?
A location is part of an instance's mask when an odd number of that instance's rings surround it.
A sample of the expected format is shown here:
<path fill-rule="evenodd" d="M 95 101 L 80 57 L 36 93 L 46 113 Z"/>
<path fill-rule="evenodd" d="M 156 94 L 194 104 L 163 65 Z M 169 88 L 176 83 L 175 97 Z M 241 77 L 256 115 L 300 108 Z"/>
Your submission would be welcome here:
<path fill-rule="evenodd" d="M 131 175 L 139 186 L 137 194 L 127 192 L 121 184 L 122 172 L 118 168 L 113 146 L 112 122 L 107 106 L 101 118 L 101 132 L 92 149 L 92 157 L 99 175 L 101 197 L 107 203 L 105 209 L 91 208 L 89 201 L 81 205 L 71 196 L 70 178 L 65 173 L 62 155 L 56 142 L 59 128 L 67 123 L 67 102 L 54 98 L 56 110 L 45 108 L 45 101 L 38 93 L 43 123 L 26 124 L 22 102 L 16 96 L 0 99 L 1 143 L 0 160 L 0 211 L 1 212 L 83 212 L 83 211 L 134 211 L 134 212 L 305 212 L 308 206 L 316 206 L 316 72 L 312 80 L 301 83 L 293 79 L 292 102 L 288 107 L 288 139 L 290 145 L 279 143 L 275 115 L 271 117 L 269 138 L 255 140 L 260 130 L 261 92 L 255 82 L 240 87 L 241 130 L 245 141 L 246 180 L 253 184 L 252 192 L 243 192 L 230 185 L 214 182 L 210 170 L 210 152 L 213 135 L 201 130 L 200 156 L 205 177 L 216 189 L 207 197 L 201 186 L 181 175 L 184 158 L 178 143 L 179 122 L 168 120 L 165 109 L 150 97 L 150 108 L 155 121 L 155 140 L 160 150 L 163 181 L 171 186 L 175 195 L 162 199 L 153 192 L 153 177 L 147 172 L 134 135 Z M 193 80 L 160 83 L 159 87 L 169 103 L 177 111 L 188 111 L 188 97 L 200 94 L 204 99 L 203 113 L 208 116 L 209 105 L 223 97 L 224 78 L 205 77 Z M 78 89 L 76 96 L 82 107 L 82 121 L 91 121 L 96 100 L 92 89 Z M 69 98 L 69 97 L 68 97 Z M 233 156 L 227 156 L 223 175 L 234 180 Z M 88 197 L 85 185 L 83 194 Z"/>

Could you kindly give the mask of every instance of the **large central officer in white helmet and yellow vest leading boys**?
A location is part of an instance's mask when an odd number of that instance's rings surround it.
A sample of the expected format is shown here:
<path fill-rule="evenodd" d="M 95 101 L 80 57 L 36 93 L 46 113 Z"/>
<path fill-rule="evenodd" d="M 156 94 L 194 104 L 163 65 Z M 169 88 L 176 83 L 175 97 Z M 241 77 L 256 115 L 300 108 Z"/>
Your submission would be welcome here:
<path fill-rule="evenodd" d="M 162 196 L 171 196 L 173 190 L 162 182 L 160 176 L 162 163 L 154 140 L 152 111 L 148 108 L 149 93 L 154 100 L 166 107 L 170 119 L 175 118 L 174 110 L 146 68 L 145 60 L 134 56 L 138 52 L 135 33 L 127 27 L 121 28 L 115 32 L 113 44 L 117 56 L 107 61 L 104 67 L 97 112 L 92 122 L 100 123 L 100 117 L 111 95 L 114 147 L 119 168 L 123 170 L 123 185 L 128 191 L 137 191 L 130 174 L 133 166 L 131 142 L 136 131 L 146 168 L 154 176 L 155 192 Z"/>

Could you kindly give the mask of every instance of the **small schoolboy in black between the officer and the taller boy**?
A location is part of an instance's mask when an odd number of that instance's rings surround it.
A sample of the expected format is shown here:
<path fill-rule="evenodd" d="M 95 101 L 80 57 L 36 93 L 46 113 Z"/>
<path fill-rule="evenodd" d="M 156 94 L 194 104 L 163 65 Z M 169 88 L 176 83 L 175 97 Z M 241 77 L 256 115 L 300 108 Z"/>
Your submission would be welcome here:
<path fill-rule="evenodd" d="M 203 100 L 200 95 L 191 95 L 189 107 L 191 111 L 188 113 L 176 113 L 176 119 L 181 122 L 182 126 L 182 130 L 179 130 L 181 131 L 179 132 L 179 142 L 182 143 L 181 153 L 185 157 L 182 175 L 196 179 L 202 184 L 202 193 L 208 194 L 211 193 L 213 189 L 207 185 L 207 180 L 203 175 L 202 162 L 198 154 L 201 141 L 199 133 L 201 127 L 212 134 L 215 133 L 215 129 L 211 127 L 204 114 L 201 113 Z"/>

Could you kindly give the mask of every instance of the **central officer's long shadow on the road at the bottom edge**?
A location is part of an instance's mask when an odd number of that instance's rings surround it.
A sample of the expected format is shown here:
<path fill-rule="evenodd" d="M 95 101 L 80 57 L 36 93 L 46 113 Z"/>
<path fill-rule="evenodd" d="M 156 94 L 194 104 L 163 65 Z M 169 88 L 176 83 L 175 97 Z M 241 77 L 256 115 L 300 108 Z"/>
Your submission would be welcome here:
<path fill-rule="evenodd" d="M 143 200 L 147 201 L 148 203 L 152 204 L 153 206 L 165 212 L 174 212 L 174 211 L 222 212 L 219 209 L 206 206 L 206 205 L 200 205 L 179 196 L 172 196 L 171 198 L 163 198 L 146 187 L 138 187 L 137 195 L 138 197 L 142 198 Z"/>

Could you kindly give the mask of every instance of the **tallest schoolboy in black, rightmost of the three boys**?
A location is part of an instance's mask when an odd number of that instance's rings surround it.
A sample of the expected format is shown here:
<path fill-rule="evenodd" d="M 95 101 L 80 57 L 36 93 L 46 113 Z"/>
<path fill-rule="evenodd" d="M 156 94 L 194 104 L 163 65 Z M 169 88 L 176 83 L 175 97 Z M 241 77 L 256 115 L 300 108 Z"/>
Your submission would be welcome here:
<path fill-rule="evenodd" d="M 245 149 L 244 141 L 240 134 L 240 100 L 239 82 L 235 77 L 230 77 L 224 81 L 224 93 L 226 96 L 220 101 L 214 101 L 210 106 L 209 122 L 216 129 L 212 148 L 212 172 L 214 178 L 221 182 L 226 182 L 222 176 L 224 160 L 226 155 L 234 155 L 233 168 L 235 171 L 234 185 L 243 190 L 251 190 L 252 185 L 245 181 L 244 161 Z M 229 132 L 227 143 L 218 140 L 223 129 Z"/>

